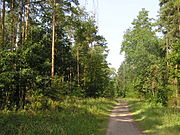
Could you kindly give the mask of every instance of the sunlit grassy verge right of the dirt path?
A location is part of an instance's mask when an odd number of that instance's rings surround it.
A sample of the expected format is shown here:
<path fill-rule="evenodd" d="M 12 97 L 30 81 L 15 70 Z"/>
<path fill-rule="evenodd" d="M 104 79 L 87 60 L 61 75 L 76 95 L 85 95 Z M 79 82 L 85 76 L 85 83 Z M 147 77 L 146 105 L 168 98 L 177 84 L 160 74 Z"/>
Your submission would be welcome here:
<path fill-rule="evenodd" d="M 149 135 L 180 135 L 180 110 L 127 99 L 134 119 Z"/>

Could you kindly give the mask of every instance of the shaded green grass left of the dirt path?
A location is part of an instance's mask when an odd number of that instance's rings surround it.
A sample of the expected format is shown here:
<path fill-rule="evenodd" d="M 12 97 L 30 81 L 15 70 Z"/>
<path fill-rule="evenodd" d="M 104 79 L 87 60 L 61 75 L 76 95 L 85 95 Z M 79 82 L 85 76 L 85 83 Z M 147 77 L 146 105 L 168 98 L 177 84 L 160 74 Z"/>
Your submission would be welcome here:
<path fill-rule="evenodd" d="M 69 97 L 46 111 L 0 112 L 0 135 L 103 135 L 115 102 Z"/>

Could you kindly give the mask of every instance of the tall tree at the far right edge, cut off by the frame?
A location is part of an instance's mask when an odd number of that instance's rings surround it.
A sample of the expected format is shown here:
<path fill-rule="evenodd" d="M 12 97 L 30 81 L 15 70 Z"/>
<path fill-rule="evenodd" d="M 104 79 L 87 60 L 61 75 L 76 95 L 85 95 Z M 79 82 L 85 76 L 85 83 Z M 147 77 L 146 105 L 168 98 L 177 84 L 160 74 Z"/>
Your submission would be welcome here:
<path fill-rule="evenodd" d="M 178 0 L 160 0 L 160 26 L 164 34 L 168 80 L 171 90 L 176 91 L 176 104 L 179 105 L 179 6 Z"/>

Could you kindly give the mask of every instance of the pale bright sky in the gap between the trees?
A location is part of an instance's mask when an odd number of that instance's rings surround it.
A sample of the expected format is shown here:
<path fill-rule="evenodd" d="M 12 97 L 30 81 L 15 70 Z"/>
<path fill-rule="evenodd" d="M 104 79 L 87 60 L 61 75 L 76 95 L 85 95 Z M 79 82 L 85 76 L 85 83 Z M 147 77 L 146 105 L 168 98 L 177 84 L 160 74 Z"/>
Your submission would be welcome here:
<path fill-rule="evenodd" d="M 156 18 L 159 11 L 159 0 L 79 0 L 80 5 L 88 12 L 96 14 L 99 34 L 104 36 L 108 43 L 109 67 L 118 70 L 124 60 L 120 54 L 121 42 L 126 29 L 130 28 L 132 21 L 139 11 L 145 8 L 149 17 Z"/>

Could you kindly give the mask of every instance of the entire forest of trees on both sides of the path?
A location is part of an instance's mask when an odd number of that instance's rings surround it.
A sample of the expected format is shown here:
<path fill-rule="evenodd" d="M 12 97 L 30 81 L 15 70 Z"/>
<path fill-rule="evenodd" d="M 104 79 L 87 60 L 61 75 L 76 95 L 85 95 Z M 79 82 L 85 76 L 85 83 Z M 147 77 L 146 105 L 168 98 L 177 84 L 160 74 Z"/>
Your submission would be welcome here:
<path fill-rule="evenodd" d="M 158 20 L 142 9 L 125 32 L 115 75 L 94 16 L 77 0 L 1 0 L 0 108 L 64 96 L 179 105 L 180 3 L 160 0 L 160 7 Z"/>

